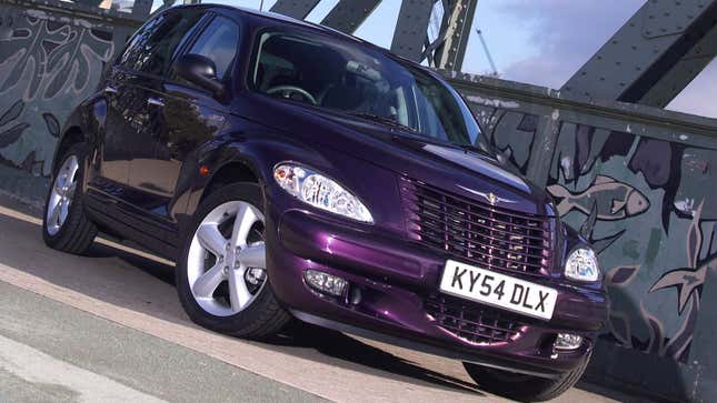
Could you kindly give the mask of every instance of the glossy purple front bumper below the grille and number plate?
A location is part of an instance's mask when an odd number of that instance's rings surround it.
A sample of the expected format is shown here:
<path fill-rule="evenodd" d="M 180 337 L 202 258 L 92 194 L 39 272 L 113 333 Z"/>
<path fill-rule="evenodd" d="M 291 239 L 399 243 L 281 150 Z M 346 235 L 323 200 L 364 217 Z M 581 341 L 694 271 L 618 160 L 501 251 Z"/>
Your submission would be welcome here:
<path fill-rule="evenodd" d="M 558 290 L 554 318 L 547 322 L 502 312 L 517 322 L 520 332 L 502 342 L 476 343 L 447 330 L 428 309 L 444 298 L 438 284 L 449 255 L 381 234 L 375 228 L 352 226 L 302 210 L 277 209 L 269 215 L 267 245 L 272 289 L 295 315 L 315 324 L 462 361 L 554 377 L 579 364 L 592 349 L 595 334 L 607 318 L 603 290 L 529 276 L 526 280 Z M 303 281 L 307 269 L 348 280 L 351 290 L 360 290 L 360 301 L 315 292 Z M 462 303 L 466 310 L 480 309 L 468 301 Z M 575 351 L 556 352 L 552 342 L 557 333 L 580 334 L 586 341 Z"/>

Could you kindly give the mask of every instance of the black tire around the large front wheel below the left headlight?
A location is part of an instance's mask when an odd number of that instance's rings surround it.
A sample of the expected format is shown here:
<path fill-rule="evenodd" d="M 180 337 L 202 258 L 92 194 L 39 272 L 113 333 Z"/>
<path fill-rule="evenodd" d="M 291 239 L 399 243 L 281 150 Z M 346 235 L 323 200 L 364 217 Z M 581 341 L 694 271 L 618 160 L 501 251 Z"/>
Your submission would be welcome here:
<path fill-rule="evenodd" d="M 201 259 L 195 256 L 196 249 L 192 249 L 192 245 L 193 248 L 197 248 L 196 242 L 198 242 L 197 236 L 199 236 L 199 226 L 203 225 L 203 223 L 206 223 L 210 215 L 215 214 L 217 209 L 221 209 L 223 205 L 230 205 L 231 203 L 237 202 L 248 203 L 251 206 L 256 208 L 256 210 L 258 210 L 261 214 L 263 213 L 263 199 L 261 195 L 261 189 L 253 183 L 235 183 L 223 187 L 212 192 L 203 202 L 201 202 L 195 215 L 191 230 L 188 231 L 186 235 L 182 253 L 177 263 L 177 292 L 185 311 L 195 323 L 216 332 L 245 339 L 261 340 L 279 333 L 291 320 L 290 313 L 285 310 L 283 306 L 281 306 L 281 304 L 277 301 L 273 290 L 271 289 L 271 283 L 268 275 L 263 276 L 262 285 L 258 291 L 256 291 L 252 296 L 253 300 L 249 302 L 248 306 L 241 309 L 241 311 L 237 313 L 231 314 L 219 314 L 207 308 L 209 304 L 209 308 L 217 308 L 217 310 L 219 311 L 221 311 L 221 309 L 223 308 L 223 310 L 226 311 L 227 306 L 221 304 L 221 302 L 225 302 L 229 305 L 229 310 L 231 310 L 233 305 L 232 302 L 229 302 L 229 298 L 225 296 L 223 300 L 221 298 L 218 298 L 216 299 L 216 301 L 206 302 L 207 300 L 211 300 L 211 298 L 213 298 L 210 296 L 209 299 L 203 300 L 205 302 L 202 302 L 202 305 L 198 302 L 198 298 L 195 298 L 192 285 L 190 284 L 190 281 L 198 282 L 198 280 L 192 280 L 191 275 L 191 273 L 196 271 L 195 263 L 197 261 L 202 261 L 202 264 L 207 266 L 212 265 L 212 268 L 208 270 L 201 268 L 202 271 L 206 271 L 199 274 L 200 278 L 215 269 L 217 264 L 222 264 L 221 261 L 218 260 L 219 258 L 215 258 L 215 263 L 206 263 L 207 259 L 211 259 L 210 253 L 208 253 L 209 250 L 205 250 L 203 258 Z M 225 213 L 223 215 L 226 216 L 227 213 Z M 237 213 L 237 216 L 239 214 Z M 236 220 L 236 218 L 233 220 Z M 220 224 L 218 226 L 221 225 L 223 224 Z M 233 224 L 231 225 L 233 226 Z M 231 244 L 231 241 L 229 241 L 228 244 Z M 248 241 L 246 246 L 249 246 Z M 239 249 L 236 250 L 238 251 Z M 239 254 L 239 252 L 237 252 L 237 254 Z M 227 261 L 229 261 L 229 259 L 227 259 Z M 229 271 L 232 272 L 231 269 L 229 269 Z M 241 276 L 243 279 L 245 274 L 241 274 Z M 212 295 L 217 294 L 217 290 L 220 290 L 222 285 L 227 290 L 227 293 L 230 293 L 229 286 L 226 285 L 227 283 L 228 280 L 222 280 L 222 283 L 217 286 L 215 291 L 212 291 Z M 201 299 L 199 300 L 201 301 Z M 225 312 L 221 311 L 220 313 Z"/>

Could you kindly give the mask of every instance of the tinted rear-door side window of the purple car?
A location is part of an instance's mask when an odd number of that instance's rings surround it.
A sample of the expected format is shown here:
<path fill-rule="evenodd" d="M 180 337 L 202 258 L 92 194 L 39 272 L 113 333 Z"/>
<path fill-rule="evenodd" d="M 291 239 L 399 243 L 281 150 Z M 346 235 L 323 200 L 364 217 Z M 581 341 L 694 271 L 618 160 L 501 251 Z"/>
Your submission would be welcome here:
<path fill-rule="evenodd" d="M 167 71 L 182 39 L 201 18 L 201 12 L 166 12 L 149 21 L 132 37 L 119 63 L 150 74 Z"/>

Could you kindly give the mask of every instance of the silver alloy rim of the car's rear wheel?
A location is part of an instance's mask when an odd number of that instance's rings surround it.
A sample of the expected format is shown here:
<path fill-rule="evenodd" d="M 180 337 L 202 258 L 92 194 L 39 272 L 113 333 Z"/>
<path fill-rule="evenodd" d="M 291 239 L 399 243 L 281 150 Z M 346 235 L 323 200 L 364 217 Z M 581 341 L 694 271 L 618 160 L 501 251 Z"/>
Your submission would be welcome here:
<path fill-rule="evenodd" d="M 46 212 L 47 231 L 50 235 L 60 232 L 70 213 L 70 205 L 77 191 L 77 171 L 80 168 L 76 155 L 70 155 L 58 171 Z"/>

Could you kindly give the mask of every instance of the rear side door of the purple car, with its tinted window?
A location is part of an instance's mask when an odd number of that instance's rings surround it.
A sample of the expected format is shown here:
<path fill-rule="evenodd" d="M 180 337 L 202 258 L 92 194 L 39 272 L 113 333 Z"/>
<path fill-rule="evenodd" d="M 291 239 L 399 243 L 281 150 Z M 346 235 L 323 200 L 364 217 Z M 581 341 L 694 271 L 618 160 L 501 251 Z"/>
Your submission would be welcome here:
<path fill-rule="evenodd" d="M 110 202 L 107 209 L 107 214 L 112 215 L 110 220 L 121 223 L 125 232 L 131 232 L 125 235 L 135 240 L 149 236 L 166 241 L 171 232 L 170 225 L 152 221 L 145 212 L 152 209 L 148 205 L 151 198 L 146 194 L 155 189 L 151 181 L 132 180 L 132 165 L 141 165 L 156 155 L 153 137 L 166 122 L 153 94 L 161 91 L 171 61 L 205 16 L 206 10 L 199 8 L 160 13 L 130 39 L 107 80 L 104 93 L 111 101 L 102 140 L 101 173 L 96 181 L 104 199 L 98 200 Z"/>

